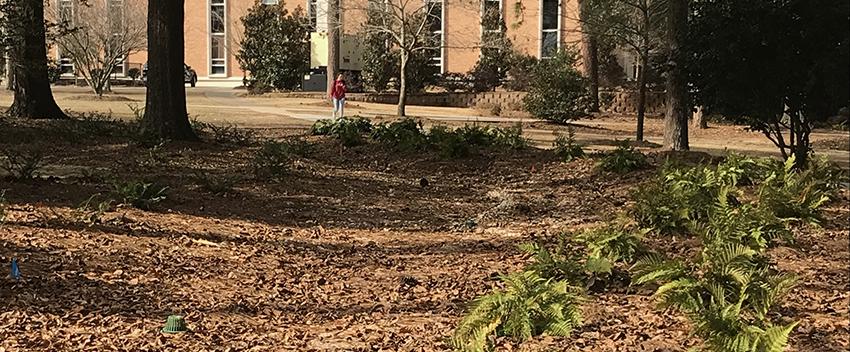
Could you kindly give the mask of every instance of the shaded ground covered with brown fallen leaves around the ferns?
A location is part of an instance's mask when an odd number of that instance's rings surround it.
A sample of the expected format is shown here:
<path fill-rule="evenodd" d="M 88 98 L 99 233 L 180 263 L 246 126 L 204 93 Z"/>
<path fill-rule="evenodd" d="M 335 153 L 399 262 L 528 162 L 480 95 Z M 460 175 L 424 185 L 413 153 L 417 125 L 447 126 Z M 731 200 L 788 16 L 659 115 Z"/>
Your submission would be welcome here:
<path fill-rule="evenodd" d="M 256 147 L 144 149 L 107 132 L 73 136 L 63 123 L 0 123 L 0 148 L 40 149 L 48 162 L 38 179 L 0 181 L 9 203 L 0 262 L 19 258 L 23 273 L 0 280 L 0 351 L 446 350 L 466 304 L 527 262 L 518 244 L 610 219 L 654 172 L 601 173 L 595 156 L 562 163 L 538 149 L 444 161 L 313 138 L 284 179 L 262 181 L 250 167 Z M 211 194 L 198 172 L 235 186 Z M 167 199 L 91 225 L 75 213 L 129 180 L 167 185 Z M 850 348 L 848 202 L 842 190 L 821 228 L 771 252 L 800 275 L 780 308 L 801 322 L 792 351 Z M 499 350 L 699 344 L 650 292 L 594 293 L 583 310 L 569 338 L 500 341 Z M 169 314 L 185 315 L 191 332 L 160 332 Z"/>

